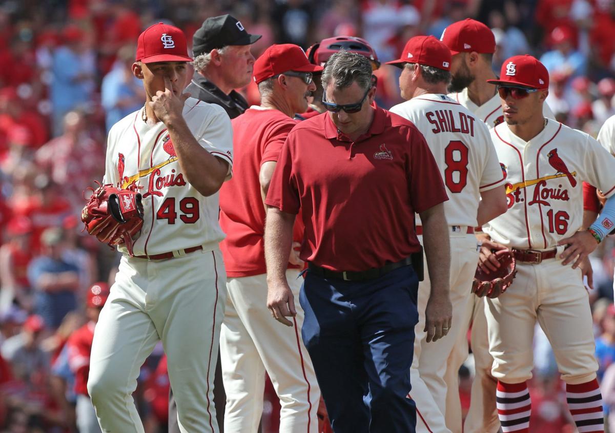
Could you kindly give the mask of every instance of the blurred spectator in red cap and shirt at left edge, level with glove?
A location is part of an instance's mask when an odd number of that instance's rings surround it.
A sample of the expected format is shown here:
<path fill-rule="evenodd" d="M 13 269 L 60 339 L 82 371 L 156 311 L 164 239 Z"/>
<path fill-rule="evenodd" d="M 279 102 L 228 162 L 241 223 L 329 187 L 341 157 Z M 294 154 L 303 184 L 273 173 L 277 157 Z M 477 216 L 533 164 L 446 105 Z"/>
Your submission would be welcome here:
<path fill-rule="evenodd" d="M 0 247 L 0 312 L 9 311 L 14 302 L 31 311 L 28 264 L 32 260 L 32 223 L 25 216 L 15 216 L 7 224 L 7 231 L 9 241 Z"/>

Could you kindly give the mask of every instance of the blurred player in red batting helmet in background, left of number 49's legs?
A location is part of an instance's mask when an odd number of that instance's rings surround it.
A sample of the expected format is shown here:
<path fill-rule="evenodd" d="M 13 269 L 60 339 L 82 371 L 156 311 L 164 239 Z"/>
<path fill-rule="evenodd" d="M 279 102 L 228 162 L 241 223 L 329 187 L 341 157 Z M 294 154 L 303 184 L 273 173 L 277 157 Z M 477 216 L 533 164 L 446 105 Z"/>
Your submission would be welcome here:
<path fill-rule="evenodd" d="M 85 295 L 85 316 L 88 322 L 77 329 L 66 342 L 68 366 L 74 374 L 74 391 L 77 395 L 77 427 L 79 433 L 100 433 L 96 412 L 87 394 L 87 378 L 90 373 L 90 353 L 94 328 L 100 316 L 100 310 L 109 297 L 109 286 L 97 282 L 87 290 Z"/>

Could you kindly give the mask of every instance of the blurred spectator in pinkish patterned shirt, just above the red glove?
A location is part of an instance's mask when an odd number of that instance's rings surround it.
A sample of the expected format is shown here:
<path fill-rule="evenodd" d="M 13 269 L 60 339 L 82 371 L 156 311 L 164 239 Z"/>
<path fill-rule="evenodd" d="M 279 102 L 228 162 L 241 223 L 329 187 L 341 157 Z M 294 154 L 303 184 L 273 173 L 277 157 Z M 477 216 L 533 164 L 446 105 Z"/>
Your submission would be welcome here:
<path fill-rule="evenodd" d="M 84 205 L 83 189 L 103 175 L 105 151 L 90 138 L 84 115 L 69 111 L 64 116 L 64 133 L 38 149 L 34 161 L 62 187 L 62 196 L 77 212 Z"/>

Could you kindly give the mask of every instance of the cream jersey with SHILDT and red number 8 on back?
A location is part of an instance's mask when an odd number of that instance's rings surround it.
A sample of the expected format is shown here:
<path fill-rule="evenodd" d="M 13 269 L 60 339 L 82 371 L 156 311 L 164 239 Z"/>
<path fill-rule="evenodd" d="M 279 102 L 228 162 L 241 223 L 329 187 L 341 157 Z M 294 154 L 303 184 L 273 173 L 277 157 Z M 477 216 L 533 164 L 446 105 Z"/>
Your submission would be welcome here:
<path fill-rule="evenodd" d="M 476 226 L 480 191 L 504 185 L 489 129 L 467 108 L 435 93 L 395 105 L 391 112 L 413 122 L 434 154 L 449 197 L 448 224 Z"/>

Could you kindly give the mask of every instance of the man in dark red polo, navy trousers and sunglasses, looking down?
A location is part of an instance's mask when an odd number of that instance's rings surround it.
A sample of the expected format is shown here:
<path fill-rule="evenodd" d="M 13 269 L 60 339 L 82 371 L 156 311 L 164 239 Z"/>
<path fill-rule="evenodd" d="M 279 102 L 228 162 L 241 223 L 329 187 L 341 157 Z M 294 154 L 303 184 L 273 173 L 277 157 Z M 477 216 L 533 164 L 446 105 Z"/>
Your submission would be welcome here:
<path fill-rule="evenodd" d="M 308 262 L 301 333 L 333 430 L 415 432 L 410 365 L 423 267 L 415 212 L 432 279 L 428 338 L 438 340 L 451 325 L 442 177 L 416 127 L 371 105 L 367 58 L 333 54 L 322 85 L 329 112 L 288 134 L 265 201 L 268 308 L 292 325 L 286 269 L 301 210 L 300 257 Z"/>

